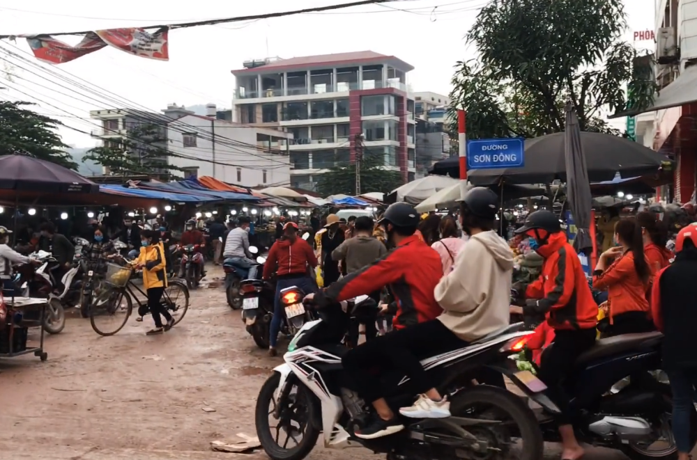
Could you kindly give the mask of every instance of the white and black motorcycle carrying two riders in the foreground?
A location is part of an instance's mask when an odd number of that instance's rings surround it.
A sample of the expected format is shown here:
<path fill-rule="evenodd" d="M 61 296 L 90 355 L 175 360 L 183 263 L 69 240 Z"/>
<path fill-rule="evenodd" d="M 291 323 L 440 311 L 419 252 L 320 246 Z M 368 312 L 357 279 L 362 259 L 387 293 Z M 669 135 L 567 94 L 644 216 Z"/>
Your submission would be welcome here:
<path fill-rule="evenodd" d="M 296 290 L 296 294 L 301 293 Z M 372 299 L 356 299 L 353 314 L 360 308 L 376 305 Z M 506 459 L 517 447 L 514 437 L 523 441 L 517 458 L 543 458 L 542 433 L 530 406 L 504 388 L 473 382 L 485 368 L 503 372 L 530 399 L 554 406 L 544 395 L 544 383 L 529 371 L 517 370 L 509 359 L 522 349 L 521 339 L 530 335 L 530 331 L 521 331 L 520 324 L 422 360 L 433 381 L 440 382 L 438 391 L 450 399 L 449 418 L 405 418 L 402 431 L 360 439 L 354 431 L 365 424 L 373 409 L 355 392 L 353 376 L 342 369 L 342 356 L 348 349 L 340 341 L 351 314 L 330 306 L 317 315 L 320 319 L 305 323 L 291 340 L 285 363 L 274 369 L 256 399 L 256 434 L 271 459 L 305 459 L 320 434 L 324 447 L 367 447 L 387 454 L 388 460 Z M 404 374 L 386 371 L 381 380 L 392 408 L 413 402 L 416 390 Z M 277 421 L 273 431 L 270 416 Z M 279 440 L 281 430 L 293 439 L 302 435 L 302 439 L 286 448 L 287 441 Z"/>

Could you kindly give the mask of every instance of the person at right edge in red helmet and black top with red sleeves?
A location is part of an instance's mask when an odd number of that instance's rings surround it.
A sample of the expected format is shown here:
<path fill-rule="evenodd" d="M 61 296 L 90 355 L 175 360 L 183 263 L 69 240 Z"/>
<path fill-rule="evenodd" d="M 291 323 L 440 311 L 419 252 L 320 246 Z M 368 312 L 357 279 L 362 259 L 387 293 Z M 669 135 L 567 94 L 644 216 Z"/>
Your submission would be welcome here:
<path fill-rule="evenodd" d="M 697 385 L 697 223 L 682 228 L 675 238 L 675 261 L 654 278 L 651 311 L 654 324 L 664 333 L 661 369 L 666 371 L 673 391 L 673 435 L 677 459 L 691 459 L 690 438 Z"/>

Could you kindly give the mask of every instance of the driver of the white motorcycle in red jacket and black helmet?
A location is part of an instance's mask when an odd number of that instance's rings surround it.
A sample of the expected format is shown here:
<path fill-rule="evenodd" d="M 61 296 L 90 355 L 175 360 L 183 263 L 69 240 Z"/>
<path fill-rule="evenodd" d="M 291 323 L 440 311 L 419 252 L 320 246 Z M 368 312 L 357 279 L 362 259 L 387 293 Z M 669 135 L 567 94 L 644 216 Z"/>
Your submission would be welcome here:
<path fill-rule="evenodd" d="M 409 347 L 417 348 L 422 354 L 430 354 L 431 347 L 440 343 L 431 337 L 430 329 L 418 338 L 401 334 L 431 322 L 443 312 L 434 297 L 434 289 L 443 276 L 441 257 L 414 235 L 419 221 L 420 216 L 413 206 L 407 203 L 390 205 L 379 225 L 385 228 L 385 235 L 394 249 L 367 267 L 344 276 L 317 294 L 307 296 L 321 308 L 355 296 L 369 295 L 388 286 L 397 299 L 391 304 L 397 309 L 393 326 L 395 331 L 352 349 L 342 360 L 347 372 L 355 376 L 360 386 L 359 394 L 373 402 L 378 413 L 372 423 L 355 431 L 360 438 L 378 438 L 404 429 L 385 402 L 381 383 L 366 370 L 376 365 L 391 365 L 404 370 L 409 376 L 422 377 L 424 371 L 419 359 L 413 358 Z M 432 386 L 427 381 L 423 390 L 427 391 Z"/>

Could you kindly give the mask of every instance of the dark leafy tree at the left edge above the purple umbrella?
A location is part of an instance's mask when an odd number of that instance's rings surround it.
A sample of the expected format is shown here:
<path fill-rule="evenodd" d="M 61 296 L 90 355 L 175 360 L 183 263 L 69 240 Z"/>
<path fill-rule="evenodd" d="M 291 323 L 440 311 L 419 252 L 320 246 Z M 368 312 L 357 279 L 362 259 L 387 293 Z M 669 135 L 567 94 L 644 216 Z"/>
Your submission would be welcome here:
<path fill-rule="evenodd" d="M 66 152 L 56 129 L 63 123 L 26 109 L 31 102 L 0 101 L 0 155 L 23 154 L 72 170 L 77 163 Z"/>

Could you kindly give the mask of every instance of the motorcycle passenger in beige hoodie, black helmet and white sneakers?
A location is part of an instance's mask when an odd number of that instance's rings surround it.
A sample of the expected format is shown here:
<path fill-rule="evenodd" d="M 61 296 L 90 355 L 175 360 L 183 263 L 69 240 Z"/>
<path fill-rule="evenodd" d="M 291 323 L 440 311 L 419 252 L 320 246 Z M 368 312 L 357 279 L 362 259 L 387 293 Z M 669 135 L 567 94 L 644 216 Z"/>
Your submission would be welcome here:
<path fill-rule="evenodd" d="M 471 189 L 462 199 L 462 226 L 470 239 L 457 255 L 453 271 L 434 290 L 435 300 L 443 308 L 441 315 L 367 342 L 385 368 L 401 370 L 422 392 L 412 406 L 399 409 L 405 417 L 450 417 L 450 403 L 436 390 L 420 360 L 467 347 L 469 342 L 509 323 L 513 253 L 493 230 L 498 203 L 496 193 L 482 187 Z M 352 363 L 352 368 L 360 368 L 358 364 L 365 367 L 370 363 Z M 348 369 L 346 358 L 344 368 Z M 377 376 L 361 378 L 364 387 L 380 386 Z M 355 431 L 356 436 L 373 439 L 404 429 L 384 399 L 369 400 L 376 417 Z"/>

